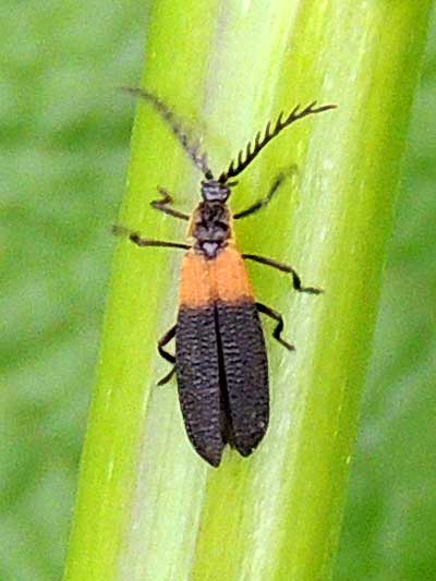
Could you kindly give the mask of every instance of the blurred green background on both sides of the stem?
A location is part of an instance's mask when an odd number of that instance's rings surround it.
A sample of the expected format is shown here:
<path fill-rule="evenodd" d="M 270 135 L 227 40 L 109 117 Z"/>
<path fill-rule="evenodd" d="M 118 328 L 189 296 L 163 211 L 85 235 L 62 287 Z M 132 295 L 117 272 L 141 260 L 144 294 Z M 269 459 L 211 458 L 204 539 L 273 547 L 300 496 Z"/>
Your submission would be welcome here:
<path fill-rule="evenodd" d="M 0 580 L 62 573 L 147 1 L 3 0 Z M 436 579 L 436 21 L 335 580 Z M 388 58 L 388 57 L 387 57 Z"/>

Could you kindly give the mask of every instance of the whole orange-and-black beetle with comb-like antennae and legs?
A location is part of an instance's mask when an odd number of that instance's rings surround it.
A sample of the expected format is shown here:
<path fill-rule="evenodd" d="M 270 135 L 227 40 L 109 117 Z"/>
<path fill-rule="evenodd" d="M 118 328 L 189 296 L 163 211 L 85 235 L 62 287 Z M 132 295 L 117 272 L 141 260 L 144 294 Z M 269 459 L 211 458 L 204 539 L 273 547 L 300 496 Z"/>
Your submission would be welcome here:
<path fill-rule="evenodd" d="M 279 175 L 268 195 L 243 211 L 231 215 L 227 201 L 239 175 L 265 145 L 286 126 L 312 113 L 335 106 L 303 110 L 295 108 L 287 118 L 280 114 L 274 129 L 257 133 L 254 144 L 240 152 L 218 179 L 214 178 L 205 154 L 192 145 L 170 109 L 143 89 L 126 89 L 138 95 L 159 112 L 194 165 L 203 172 L 202 202 L 192 217 L 171 206 L 172 197 L 159 189 L 161 198 L 152 206 L 175 218 L 190 220 L 192 243 L 148 240 L 123 227 L 140 246 L 166 246 L 186 250 L 182 262 L 180 308 L 177 324 L 160 339 L 159 353 L 172 363 L 160 385 L 177 375 L 179 399 L 187 436 L 195 450 L 211 465 L 220 463 L 226 444 L 249 456 L 264 437 L 269 419 L 268 365 L 259 313 L 276 322 L 272 334 L 288 350 L 294 348 L 281 338 L 283 320 L 279 313 L 258 303 L 250 285 L 245 259 L 256 261 L 292 276 L 299 292 L 317 294 L 320 290 L 302 287 L 295 270 L 284 264 L 254 254 L 241 254 L 233 235 L 232 220 L 245 218 L 267 205 L 283 181 Z M 175 356 L 165 348 L 175 337 Z"/>

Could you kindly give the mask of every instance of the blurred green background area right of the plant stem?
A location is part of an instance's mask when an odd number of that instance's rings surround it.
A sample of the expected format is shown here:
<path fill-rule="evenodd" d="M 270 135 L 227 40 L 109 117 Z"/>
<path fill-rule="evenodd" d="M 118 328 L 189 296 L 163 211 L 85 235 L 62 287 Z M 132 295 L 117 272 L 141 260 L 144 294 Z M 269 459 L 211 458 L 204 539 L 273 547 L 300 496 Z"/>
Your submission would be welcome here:
<path fill-rule="evenodd" d="M 429 580 L 436 571 L 435 24 L 388 247 L 338 581 Z"/>

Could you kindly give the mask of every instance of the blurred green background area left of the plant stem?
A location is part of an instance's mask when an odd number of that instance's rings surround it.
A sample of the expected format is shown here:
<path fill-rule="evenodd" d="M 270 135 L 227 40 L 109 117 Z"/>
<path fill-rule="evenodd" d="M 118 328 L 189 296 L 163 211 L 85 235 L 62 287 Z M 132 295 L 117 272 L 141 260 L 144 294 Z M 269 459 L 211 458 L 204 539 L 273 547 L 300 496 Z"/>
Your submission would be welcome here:
<path fill-rule="evenodd" d="M 0 579 L 59 579 L 125 182 L 144 9 L 8 1 L 1 31 Z"/>

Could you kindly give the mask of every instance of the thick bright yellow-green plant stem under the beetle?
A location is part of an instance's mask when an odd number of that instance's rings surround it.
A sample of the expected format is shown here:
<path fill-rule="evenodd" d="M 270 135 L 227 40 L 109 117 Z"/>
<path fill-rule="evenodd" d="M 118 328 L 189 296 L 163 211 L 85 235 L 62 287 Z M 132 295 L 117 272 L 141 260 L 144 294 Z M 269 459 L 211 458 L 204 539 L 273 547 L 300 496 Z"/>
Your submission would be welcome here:
<path fill-rule="evenodd" d="M 266 121 L 335 102 L 268 146 L 231 205 L 268 191 L 238 223 L 244 252 L 289 262 L 318 298 L 250 265 L 258 299 L 284 314 L 289 355 L 268 341 L 271 423 L 259 449 L 218 470 L 184 434 L 156 341 L 173 324 L 180 255 L 117 250 L 65 578 L 325 579 L 331 572 L 395 191 L 431 2 L 155 0 L 144 86 L 204 135 L 216 172 Z M 156 113 L 136 117 L 121 222 L 182 241 L 149 208 L 156 186 L 187 210 L 198 172 Z M 266 332 L 270 329 L 266 324 Z"/>

